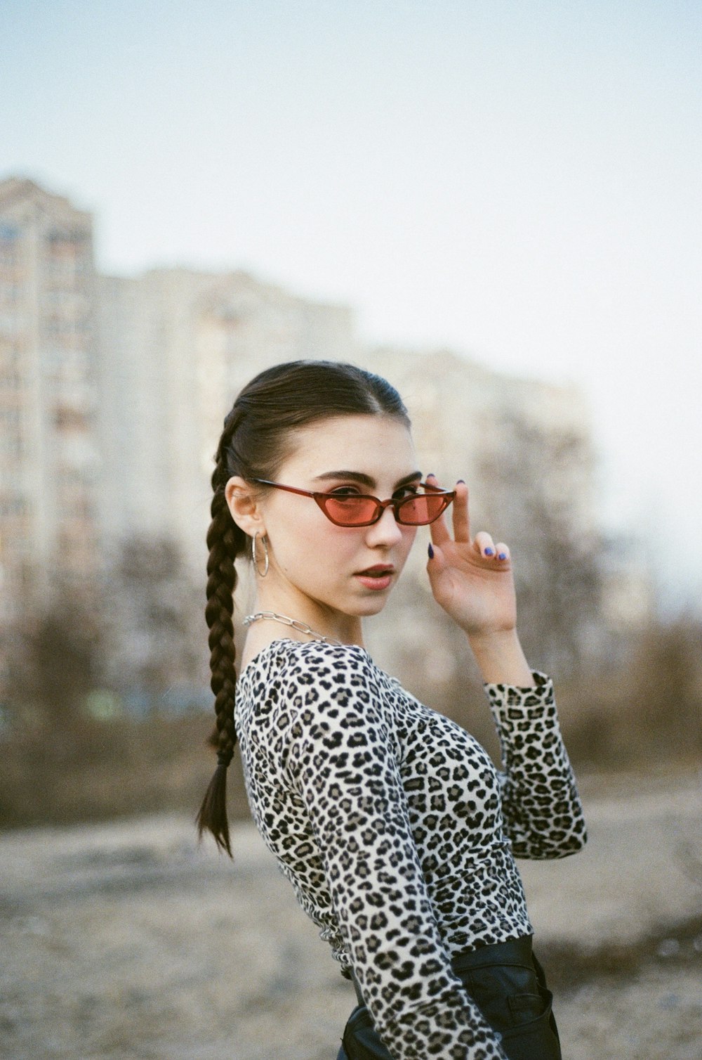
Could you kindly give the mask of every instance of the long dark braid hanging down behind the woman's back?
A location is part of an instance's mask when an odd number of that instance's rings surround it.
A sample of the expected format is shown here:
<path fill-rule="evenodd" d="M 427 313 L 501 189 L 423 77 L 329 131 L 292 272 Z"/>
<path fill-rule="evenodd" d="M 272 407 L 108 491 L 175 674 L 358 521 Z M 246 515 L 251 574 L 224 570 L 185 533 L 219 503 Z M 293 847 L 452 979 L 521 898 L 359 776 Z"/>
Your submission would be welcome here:
<path fill-rule="evenodd" d="M 217 768 L 205 793 L 197 816 L 198 833 L 212 832 L 220 849 L 232 856 L 227 820 L 227 768 L 234 755 L 236 730 L 234 728 L 234 701 L 236 671 L 234 669 L 234 588 L 236 571 L 234 560 L 244 545 L 245 534 L 234 523 L 224 487 L 229 479 L 227 446 L 236 425 L 236 416 L 227 421 L 217 450 L 216 466 L 212 476 L 212 522 L 208 530 L 208 602 L 204 611 L 210 629 L 210 686 L 215 695 L 216 729 L 213 743 L 217 747 Z M 238 540 L 237 540 L 238 538 Z"/>

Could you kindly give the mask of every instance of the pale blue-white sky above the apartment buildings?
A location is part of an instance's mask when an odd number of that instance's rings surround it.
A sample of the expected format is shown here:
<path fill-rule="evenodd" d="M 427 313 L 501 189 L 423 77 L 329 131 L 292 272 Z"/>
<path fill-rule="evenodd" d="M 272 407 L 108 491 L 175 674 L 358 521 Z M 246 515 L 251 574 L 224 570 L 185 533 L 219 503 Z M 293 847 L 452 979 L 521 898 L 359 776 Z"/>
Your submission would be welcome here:
<path fill-rule="evenodd" d="M 580 383 L 602 518 L 699 606 L 699 0 L 3 0 L 0 41 L 0 176 L 94 211 L 102 269 Z"/>

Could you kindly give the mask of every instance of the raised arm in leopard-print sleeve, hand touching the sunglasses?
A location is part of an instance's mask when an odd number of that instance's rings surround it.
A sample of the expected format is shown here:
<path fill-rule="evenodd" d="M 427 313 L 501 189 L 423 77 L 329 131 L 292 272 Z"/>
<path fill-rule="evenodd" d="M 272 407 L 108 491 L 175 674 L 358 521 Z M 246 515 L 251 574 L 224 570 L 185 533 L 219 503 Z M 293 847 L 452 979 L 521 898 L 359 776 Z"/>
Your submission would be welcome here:
<path fill-rule="evenodd" d="M 464 630 L 487 686 L 502 746 L 502 809 L 515 853 L 560 858 L 586 842 L 582 807 L 560 735 L 551 682 L 533 673 L 517 635 L 509 549 L 472 538 L 468 490 L 456 485 L 453 537 L 432 525 L 428 564 L 437 602 Z"/>

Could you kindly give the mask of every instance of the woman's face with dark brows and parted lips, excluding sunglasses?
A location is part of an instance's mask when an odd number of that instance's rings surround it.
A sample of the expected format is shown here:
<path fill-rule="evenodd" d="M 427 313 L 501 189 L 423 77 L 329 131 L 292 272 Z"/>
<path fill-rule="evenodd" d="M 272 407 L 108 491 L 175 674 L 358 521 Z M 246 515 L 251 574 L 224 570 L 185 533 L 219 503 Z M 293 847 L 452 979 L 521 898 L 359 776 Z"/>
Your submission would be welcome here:
<path fill-rule="evenodd" d="M 275 481 L 330 493 L 341 488 L 380 500 L 403 496 L 420 481 L 409 429 L 385 416 L 340 416 L 303 427 Z M 392 508 L 370 527 L 339 527 L 311 497 L 268 490 L 260 501 L 270 568 L 257 579 L 258 606 L 321 632 L 353 635 L 365 615 L 384 606 L 416 533 Z"/>

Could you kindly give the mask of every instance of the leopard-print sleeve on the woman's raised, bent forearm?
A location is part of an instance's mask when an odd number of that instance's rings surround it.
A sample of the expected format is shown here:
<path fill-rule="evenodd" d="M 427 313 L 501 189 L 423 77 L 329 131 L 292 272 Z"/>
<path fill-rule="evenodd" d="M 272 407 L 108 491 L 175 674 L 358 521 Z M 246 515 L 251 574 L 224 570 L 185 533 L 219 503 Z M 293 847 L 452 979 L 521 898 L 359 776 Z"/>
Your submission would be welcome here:
<path fill-rule="evenodd" d="M 502 812 L 517 858 L 564 858 L 584 846 L 582 807 L 553 685 L 534 677 L 534 688 L 485 686 L 502 747 Z"/>

